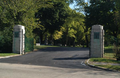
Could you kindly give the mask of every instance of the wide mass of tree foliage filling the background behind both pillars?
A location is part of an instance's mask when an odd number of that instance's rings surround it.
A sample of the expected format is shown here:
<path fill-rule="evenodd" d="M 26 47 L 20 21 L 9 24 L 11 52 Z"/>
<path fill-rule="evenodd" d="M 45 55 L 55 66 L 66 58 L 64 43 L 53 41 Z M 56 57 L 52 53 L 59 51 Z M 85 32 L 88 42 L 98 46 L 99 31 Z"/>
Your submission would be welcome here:
<path fill-rule="evenodd" d="M 103 25 L 107 35 L 119 38 L 120 1 L 89 1 L 0 0 L 0 47 L 12 45 L 13 27 L 18 24 L 25 26 L 26 37 L 42 44 L 88 47 L 90 29 L 95 24 Z M 69 7 L 74 2 L 79 6 L 75 10 Z"/>

